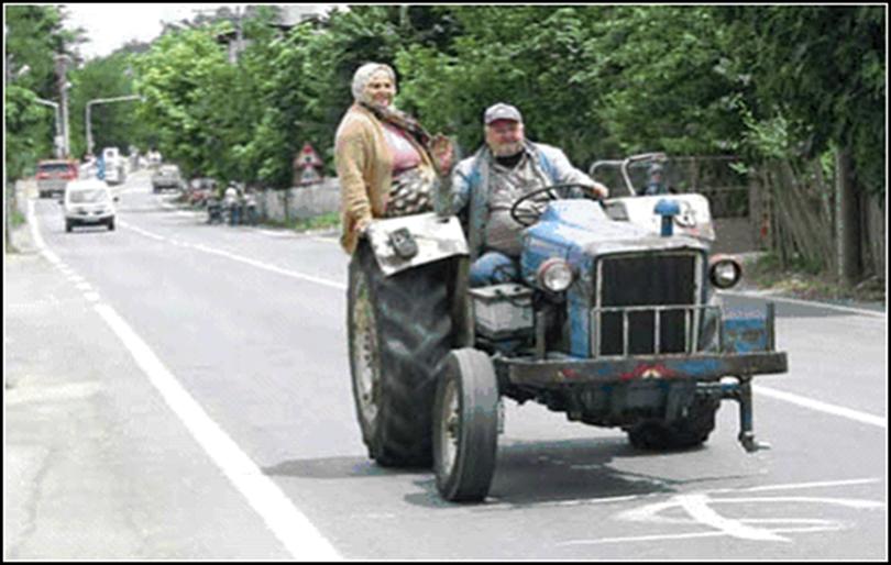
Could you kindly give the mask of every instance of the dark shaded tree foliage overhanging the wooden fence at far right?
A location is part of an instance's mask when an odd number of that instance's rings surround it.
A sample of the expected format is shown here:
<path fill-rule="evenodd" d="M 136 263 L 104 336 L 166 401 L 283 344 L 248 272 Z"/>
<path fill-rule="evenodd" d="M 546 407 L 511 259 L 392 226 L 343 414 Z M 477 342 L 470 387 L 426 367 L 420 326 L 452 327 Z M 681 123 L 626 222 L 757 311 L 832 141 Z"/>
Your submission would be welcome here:
<path fill-rule="evenodd" d="M 860 188 L 884 195 L 884 8 L 714 10 L 727 25 L 727 48 L 734 56 L 728 66 L 745 77 L 739 100 L 750 131 L 777 132 L 782 124 L 787 152 L 809 157 L 847 148 Z M 776 152 L 776 144 L 769 146 Z"/>

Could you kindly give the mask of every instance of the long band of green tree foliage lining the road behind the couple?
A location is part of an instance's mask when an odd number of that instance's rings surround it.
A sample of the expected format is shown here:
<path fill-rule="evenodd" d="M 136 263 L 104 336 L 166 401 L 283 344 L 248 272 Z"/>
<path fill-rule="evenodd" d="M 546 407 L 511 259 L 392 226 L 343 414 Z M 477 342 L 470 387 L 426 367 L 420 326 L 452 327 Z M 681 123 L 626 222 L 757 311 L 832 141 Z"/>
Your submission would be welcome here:
<path fill-rule="evenodd" d="M 107 120 L 97 145 L 138 140 L 189 174 L 287 187 L 306 142 L 331 170 L 352 75 L 376 60 L 397 71 L 397 106 L 464 154 L 482 143 L 484 109 L 505 101 L 521 110 L 530 139 L 560 145 L 581 167 L 642 151 L 757 162 L 846 146 L 858 182 L 883 192 L 884 14 L 872 5 L 363 4 L 282 33 L 257 7 L 233 65 L 220 38 L 238 22 L 218 11 L 169 25 L 147 51 L 84 66 L 73 128 L 82 128 L 90 97 L 138 92 L 145 103 L 97 111 Z M 52 19 L 30 25 L 8 43 L 58 47 L 37 32 Z M 52 63 L 33 80 L 25 86 L 51 92 L 41 88 L 52 87 Z"/>

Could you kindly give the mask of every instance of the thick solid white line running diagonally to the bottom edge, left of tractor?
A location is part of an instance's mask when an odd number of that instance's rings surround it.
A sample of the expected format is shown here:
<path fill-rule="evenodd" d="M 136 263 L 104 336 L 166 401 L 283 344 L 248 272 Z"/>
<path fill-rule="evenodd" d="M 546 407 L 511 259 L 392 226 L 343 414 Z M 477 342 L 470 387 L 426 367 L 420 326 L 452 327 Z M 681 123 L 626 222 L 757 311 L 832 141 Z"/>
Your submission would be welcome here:
<path fill-rule="evenodd" d="M 263 518 L 294 558 L 340 560 L 340 554 L 330 542 L 217 425 L 130 325 L 107 304 L 96 304 L 94 308 L 118 334 L 170 410 Z"/>

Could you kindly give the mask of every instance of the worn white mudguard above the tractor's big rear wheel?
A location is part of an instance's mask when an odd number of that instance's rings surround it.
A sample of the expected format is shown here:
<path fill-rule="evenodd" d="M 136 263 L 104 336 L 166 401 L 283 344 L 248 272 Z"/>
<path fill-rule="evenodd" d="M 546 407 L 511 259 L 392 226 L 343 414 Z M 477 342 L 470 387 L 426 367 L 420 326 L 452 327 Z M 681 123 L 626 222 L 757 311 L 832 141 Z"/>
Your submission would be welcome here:
<path fill-rule="evenodd" d="M 387 277 L 446 257 L 469 254 L 458 218 L 439 218 L 433 212 L 374 220 L 366 235 Z"/>

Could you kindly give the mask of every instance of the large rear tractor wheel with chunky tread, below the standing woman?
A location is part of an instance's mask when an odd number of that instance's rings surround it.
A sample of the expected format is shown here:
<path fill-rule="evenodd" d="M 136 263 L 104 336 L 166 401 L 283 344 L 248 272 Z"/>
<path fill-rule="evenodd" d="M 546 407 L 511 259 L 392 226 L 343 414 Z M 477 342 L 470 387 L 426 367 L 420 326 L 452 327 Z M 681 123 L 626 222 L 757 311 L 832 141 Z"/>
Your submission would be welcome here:
<path fill-rule="evenodd" d="M 364 241 L 350 263 L 353 399 L 362 440 L 380 465 L 432 463 L 433 395 L 452 340 L 450 269 L 442 261 L 386 277 Z"/>

